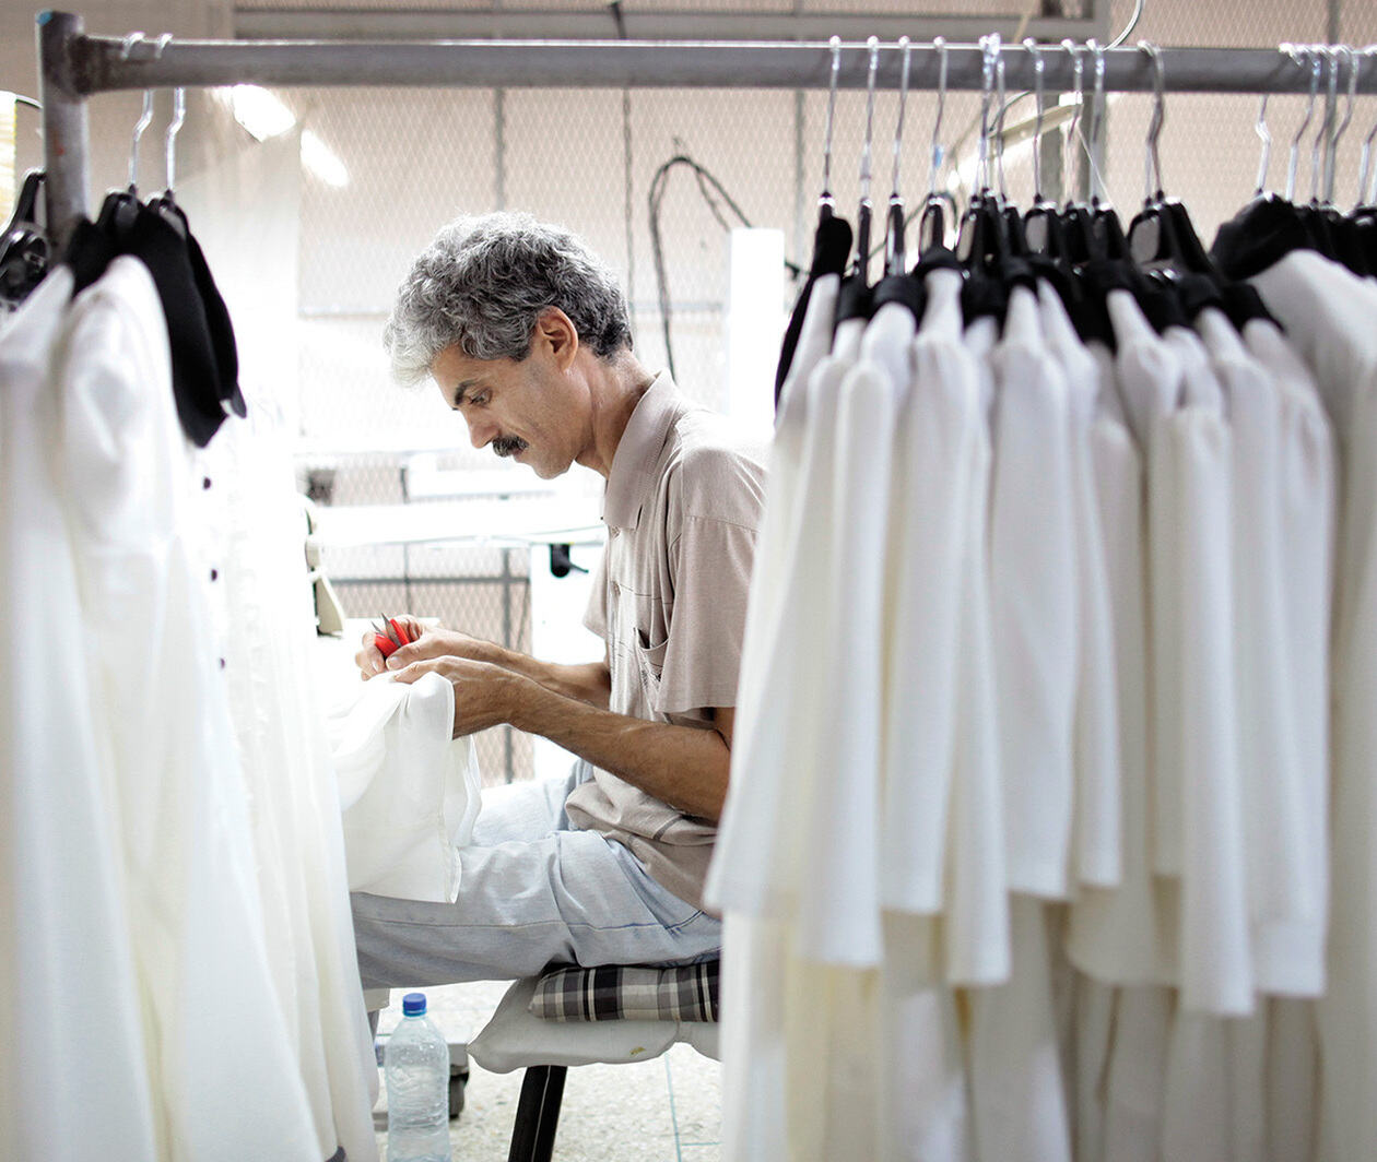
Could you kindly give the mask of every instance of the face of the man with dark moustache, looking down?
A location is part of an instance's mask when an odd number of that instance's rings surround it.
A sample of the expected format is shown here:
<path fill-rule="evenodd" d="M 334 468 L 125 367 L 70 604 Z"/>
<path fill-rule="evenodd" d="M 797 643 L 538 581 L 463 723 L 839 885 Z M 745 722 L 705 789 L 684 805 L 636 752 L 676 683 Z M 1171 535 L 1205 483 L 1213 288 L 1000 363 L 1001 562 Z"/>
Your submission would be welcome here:
<path fill-rule="evenodd" d="M 521 362 L 474 359 L 456 343 L 435 357 L 431 374 L 468 423 L 474 447 L 511 456 L 544 480 L 567 472 L 585 447 L 582 395 L 540 343 Z"/>

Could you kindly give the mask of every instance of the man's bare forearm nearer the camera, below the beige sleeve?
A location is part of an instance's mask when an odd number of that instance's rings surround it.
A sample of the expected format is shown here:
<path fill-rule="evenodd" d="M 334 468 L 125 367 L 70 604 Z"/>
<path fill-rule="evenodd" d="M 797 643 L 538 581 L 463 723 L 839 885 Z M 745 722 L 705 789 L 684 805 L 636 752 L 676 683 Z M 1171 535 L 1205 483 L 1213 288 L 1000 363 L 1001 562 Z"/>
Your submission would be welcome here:
<path fill-rule="evenodd" d="M 616 715 L 559 694 L 538 679 L 516 691 L 508 720 L 684 814 L 712 822 L 722 815 L 731 749 L 716 730 Z"/>

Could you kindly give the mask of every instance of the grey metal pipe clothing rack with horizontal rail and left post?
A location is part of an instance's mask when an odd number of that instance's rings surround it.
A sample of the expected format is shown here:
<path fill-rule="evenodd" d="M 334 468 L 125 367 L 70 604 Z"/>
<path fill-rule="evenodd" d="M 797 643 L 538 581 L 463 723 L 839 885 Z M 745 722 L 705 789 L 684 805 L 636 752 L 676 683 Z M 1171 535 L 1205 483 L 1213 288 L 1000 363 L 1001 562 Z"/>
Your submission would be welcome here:
<path fill-rule="evenodd" d="M 135 40 L 87 36 L 80 15 L 55 11 L 40 12 L 37 25 L 48 230 L 59 242 L 85 213 L 85 99 L 98 92 L 233 84 L 817 89 L 828 87 L 832 66 L 825 43 Z M 931 43 L 912 45 L 909 88 L 936 89 L 943 55 L 949 89 L 982 88 L 979 45 Z M 1086 92 L 1100 55 L 1103 91 L 1155 89 L 1157 66 L 1142 50 L 1082 48 Z M 1158 56 L 1170 92 L 1310 91 L 1310 67 L 1274 48 L 1162 48 Z M 1022 45 L 1004 45 L 1002 59 L 1008 85 L 1033 87 L 1034 61 Z M 1074 88 L 1071 54 L 1044 45 L 1042 62 L 1048 92 Z M 866 45 L 844 44 L 837 87 L 865 88 L 868 65 Z M 876 85 L 898 89 L 899 67 L 896 47 L 883 45 Z M 1377 63 L 1356 80 L 1358 92 L 1377 92 Z"/>

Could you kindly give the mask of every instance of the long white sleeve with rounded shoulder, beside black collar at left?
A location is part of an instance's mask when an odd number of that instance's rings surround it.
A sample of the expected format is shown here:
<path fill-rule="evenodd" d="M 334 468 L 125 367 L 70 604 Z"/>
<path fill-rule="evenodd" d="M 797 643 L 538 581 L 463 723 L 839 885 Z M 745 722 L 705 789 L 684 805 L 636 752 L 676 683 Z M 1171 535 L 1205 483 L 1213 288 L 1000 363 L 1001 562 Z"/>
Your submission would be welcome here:
<path fill-rule="evenodd" d="M 318 1159 L 281 1037 L 252 838 L 205 593 L 187 457 L 147 270 L 72 306 L 54 376 L 94 717 L 120 808 L 160 1156 Z"/>

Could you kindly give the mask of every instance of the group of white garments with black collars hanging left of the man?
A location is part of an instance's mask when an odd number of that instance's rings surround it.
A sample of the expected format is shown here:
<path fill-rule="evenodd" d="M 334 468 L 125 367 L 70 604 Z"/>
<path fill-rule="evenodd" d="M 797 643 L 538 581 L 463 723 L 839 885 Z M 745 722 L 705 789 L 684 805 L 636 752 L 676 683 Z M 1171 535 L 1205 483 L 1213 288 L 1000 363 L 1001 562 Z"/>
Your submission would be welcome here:
<path fill-rule="evenodd" d="M 366 1162 L 300 504 L 171 189 L 180 121 L 167 193 L 131 160 L 0 322 L 0 1154 Z"/>

